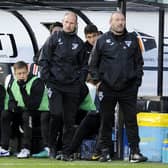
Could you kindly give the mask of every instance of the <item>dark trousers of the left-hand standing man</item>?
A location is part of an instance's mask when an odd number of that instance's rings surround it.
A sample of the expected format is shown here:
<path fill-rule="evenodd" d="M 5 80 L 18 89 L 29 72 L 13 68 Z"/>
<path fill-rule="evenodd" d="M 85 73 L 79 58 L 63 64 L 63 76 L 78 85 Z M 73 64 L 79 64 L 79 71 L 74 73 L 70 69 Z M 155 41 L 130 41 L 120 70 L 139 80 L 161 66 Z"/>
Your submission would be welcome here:
<path fill-rule="evenodd" d="M 52 91 L 49 97 L 50 108 L 50 130 L 49 130 L 49 143 L 50 147 L 55 143 L 55 137 L 60 132 L 63 125 L 63 153 L 69 148 L 72 140 L 75 119 L 78 109 L 79 94 L 67 93 L 59 90 Z"/>

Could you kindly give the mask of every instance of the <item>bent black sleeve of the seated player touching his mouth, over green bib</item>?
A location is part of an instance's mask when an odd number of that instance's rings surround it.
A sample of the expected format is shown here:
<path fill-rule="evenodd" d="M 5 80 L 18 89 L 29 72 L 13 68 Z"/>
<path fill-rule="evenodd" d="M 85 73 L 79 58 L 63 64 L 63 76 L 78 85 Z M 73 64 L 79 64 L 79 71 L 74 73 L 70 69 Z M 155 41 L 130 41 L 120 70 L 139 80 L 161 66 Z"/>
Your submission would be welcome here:
<path fill-rule="evenodd" d="M 44 82 L 40 78 L 36 79 L 33 82 L 30 90 L 30 95 L 27 94 L 25 88 L 21 88 L 21 94 L 27 109 L 37 110 L 39 108 L 43 97 L 44 89 Z"/>

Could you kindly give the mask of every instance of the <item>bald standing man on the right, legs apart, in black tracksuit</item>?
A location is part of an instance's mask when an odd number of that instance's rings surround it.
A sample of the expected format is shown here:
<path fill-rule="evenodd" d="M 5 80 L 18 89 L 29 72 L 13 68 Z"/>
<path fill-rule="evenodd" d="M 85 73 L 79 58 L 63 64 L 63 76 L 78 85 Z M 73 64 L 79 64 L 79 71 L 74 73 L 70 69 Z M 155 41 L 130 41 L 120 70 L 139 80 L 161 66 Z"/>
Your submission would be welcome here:
<path fill-rule="evenodd" d="M 91 54 L 91 76 L 97 82 L 100 98 L 101 127 L 99 134 L 100 161 L 110 161 L 109 144 L 117 102 L 123 111 L 130 146 L 130 162 L 146 161 L 139 150 L 136 119 L 138 87 L 143 75 L 143 58 L 137 37 L 125 28 L 125 17 L 115 12 L 110 31 L 102 35 Z"/>

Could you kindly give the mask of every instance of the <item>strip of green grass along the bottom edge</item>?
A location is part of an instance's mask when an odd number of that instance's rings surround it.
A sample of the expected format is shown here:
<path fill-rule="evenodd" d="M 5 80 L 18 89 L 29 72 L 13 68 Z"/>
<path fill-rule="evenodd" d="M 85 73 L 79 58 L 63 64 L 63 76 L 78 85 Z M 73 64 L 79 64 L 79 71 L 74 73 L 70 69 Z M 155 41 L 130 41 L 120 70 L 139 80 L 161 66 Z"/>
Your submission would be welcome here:
<path fill-rule="evenodd" d="M 112 161 L 100 163 L 95 161 L 64 162 L 53 159 L 17 159 L 15 157 L 0 158 L 0 168 L 168 168 L 162 163 L 129 163 L 127 161 Z"/>

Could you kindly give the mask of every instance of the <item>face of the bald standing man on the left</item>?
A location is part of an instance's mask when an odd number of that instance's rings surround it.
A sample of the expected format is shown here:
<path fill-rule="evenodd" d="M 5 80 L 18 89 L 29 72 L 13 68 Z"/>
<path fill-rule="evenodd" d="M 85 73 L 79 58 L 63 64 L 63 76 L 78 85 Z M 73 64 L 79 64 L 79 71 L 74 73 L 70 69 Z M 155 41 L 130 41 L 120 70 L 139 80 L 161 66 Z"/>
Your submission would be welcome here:
<path fill-rule="evenodd" d="M 74 32 L 77 27 L 77 20 L 74 14 L 68 14 L 63 20 L 63 30 L 67 33 Z"/>

